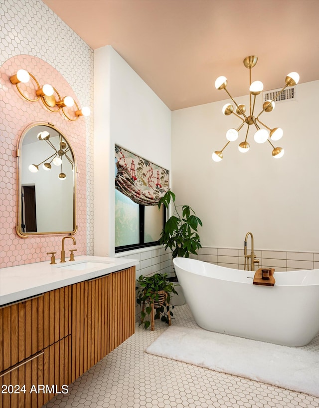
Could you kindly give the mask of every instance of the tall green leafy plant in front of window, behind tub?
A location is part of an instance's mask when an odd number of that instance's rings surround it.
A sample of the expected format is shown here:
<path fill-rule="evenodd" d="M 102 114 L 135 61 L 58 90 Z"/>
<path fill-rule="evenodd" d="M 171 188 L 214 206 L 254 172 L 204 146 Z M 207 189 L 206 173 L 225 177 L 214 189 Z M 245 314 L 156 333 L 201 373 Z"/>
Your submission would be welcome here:
<path fill-rule="evenodd" d="M 159 208 L 163 204 L 168 208 L 172 202 L 174 210 L 172 215 L 167 219 L 165 226 L 160 234 L 160 244 L 165 245 L 165 249 L 169 248 L 172 252 L 172 259 L 178 257 L 189 258 L 190 254 L 197 255 L 197 251 L 201 248 L 200 238 L 197 232 L 198 225 L 203 226 L 200 218 L 198 218 L 194 210 L 189 205 L 176 206 L 175 194 L 168 190 L 165 195 L 160 198 Z M 172 278 L 173 282 L 178 282 L 176 275 Z M 183 298 L 181 288 L 178 288 L 180 298 Z M 183 304 L 183 303 L 175 303 Z"/>

